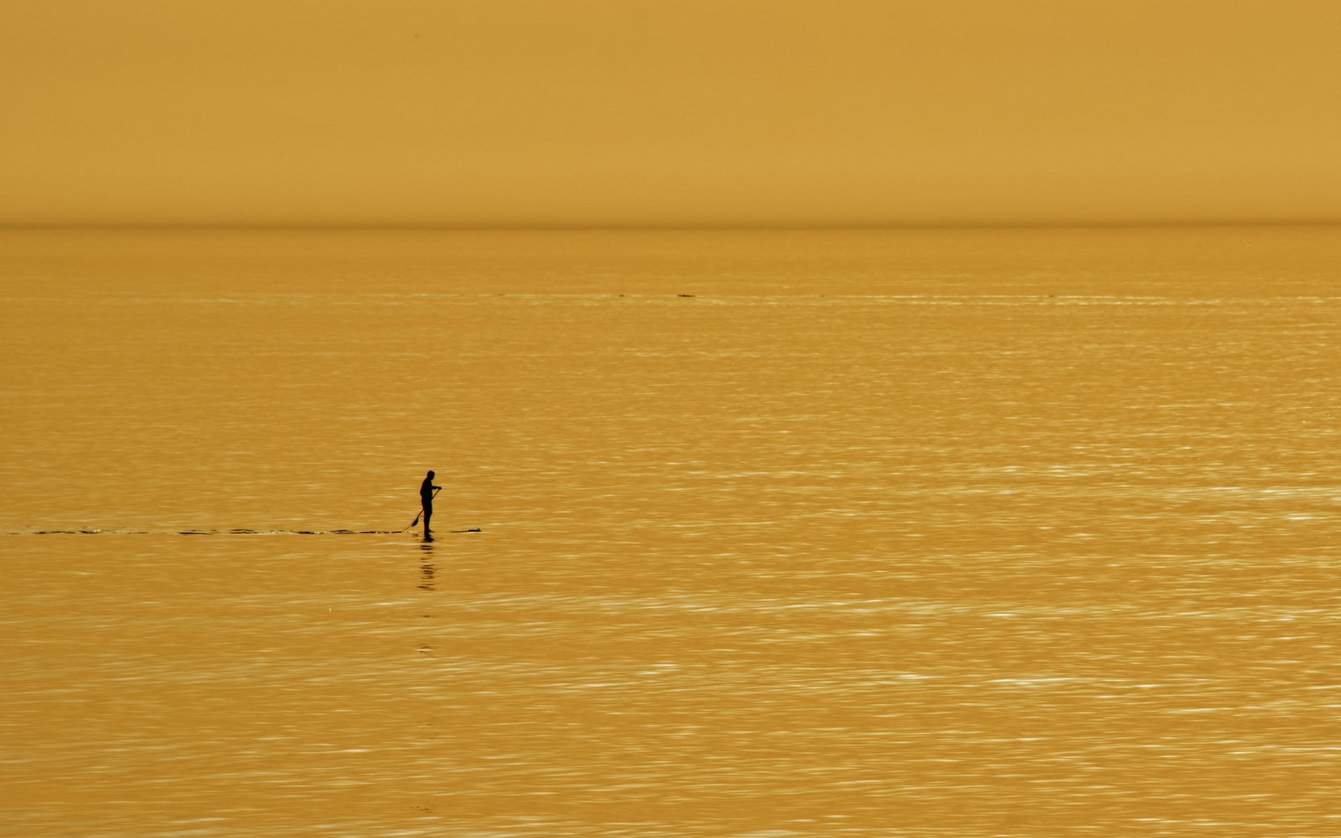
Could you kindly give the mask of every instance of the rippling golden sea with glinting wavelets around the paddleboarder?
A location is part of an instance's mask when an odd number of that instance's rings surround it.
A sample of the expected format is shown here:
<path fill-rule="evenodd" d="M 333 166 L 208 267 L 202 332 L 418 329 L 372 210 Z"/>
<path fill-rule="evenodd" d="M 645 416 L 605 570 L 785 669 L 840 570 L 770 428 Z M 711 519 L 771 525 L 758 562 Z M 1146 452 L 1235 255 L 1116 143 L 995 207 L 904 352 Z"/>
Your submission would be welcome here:
<path fill-rule="evenodd" d="M 9 231 L 0 350 L 3 835 L 1341 835 L 1337 228 Z"/>

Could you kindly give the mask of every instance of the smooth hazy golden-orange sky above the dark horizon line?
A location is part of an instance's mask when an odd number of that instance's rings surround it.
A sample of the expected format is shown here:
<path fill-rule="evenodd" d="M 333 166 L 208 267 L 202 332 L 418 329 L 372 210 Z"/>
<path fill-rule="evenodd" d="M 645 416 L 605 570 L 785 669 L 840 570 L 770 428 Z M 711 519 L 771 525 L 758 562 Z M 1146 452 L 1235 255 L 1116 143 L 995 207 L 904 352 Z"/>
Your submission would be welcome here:
<path fill-rule="evenodd" d="M 1341 0 L 3 0 L 0 224 L 1341 220 Z"/>

